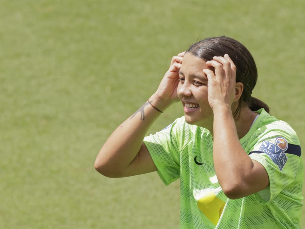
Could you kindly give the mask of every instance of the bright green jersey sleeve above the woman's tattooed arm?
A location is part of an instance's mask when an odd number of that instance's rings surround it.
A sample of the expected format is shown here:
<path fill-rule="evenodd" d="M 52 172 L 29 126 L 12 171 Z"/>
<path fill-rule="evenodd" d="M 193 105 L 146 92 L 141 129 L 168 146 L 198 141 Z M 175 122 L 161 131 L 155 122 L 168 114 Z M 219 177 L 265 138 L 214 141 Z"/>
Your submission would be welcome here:
<path fill-rule="evenodd" d="M 169 185 L 180 177 L 180 147 L 178 142 L 179 119 L 156 134 L 143 140 L 164 184 Z"/>

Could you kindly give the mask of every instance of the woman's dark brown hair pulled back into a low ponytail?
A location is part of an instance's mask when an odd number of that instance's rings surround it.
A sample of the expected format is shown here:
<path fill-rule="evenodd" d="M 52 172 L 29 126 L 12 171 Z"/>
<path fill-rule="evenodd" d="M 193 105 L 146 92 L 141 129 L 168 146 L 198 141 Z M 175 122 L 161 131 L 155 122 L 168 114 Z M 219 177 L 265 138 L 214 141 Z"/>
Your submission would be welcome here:
<path fill-rule="evenodd" d="M 240 42 L 225 36 L 206 38 L 191 45 L 186 51 L 205 61 L 213 60 L 213 56 L 228 54 L 236 66 L 236 82 L 242 82 L 244 89 L 242 99 L 234 112 L 235 117 L 240 115 L 242 102 L 246 103 L 252 111 L 264 108 L 269 113 L 269 107 L 264 102 L 251 96 L 257 82 L 257 68 L 249 50 Z"/>

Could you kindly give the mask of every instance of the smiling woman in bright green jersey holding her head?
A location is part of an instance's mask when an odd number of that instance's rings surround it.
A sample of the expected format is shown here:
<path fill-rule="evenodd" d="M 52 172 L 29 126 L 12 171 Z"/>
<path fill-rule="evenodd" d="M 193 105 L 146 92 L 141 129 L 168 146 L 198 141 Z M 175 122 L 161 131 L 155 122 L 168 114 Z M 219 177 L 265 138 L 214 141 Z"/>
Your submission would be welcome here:
<path fill-rule="evenodd" d="M 180 178 L 180 228 L 300 228 L 300 142 L 251 96 L 256 81 L 253 57 L 238 41 L 193 44 L 112 133 L 96 170 L 108 177 L 157 171 L 166 185 Z M 185 116 L 145 137 L 178 100 Z"/>

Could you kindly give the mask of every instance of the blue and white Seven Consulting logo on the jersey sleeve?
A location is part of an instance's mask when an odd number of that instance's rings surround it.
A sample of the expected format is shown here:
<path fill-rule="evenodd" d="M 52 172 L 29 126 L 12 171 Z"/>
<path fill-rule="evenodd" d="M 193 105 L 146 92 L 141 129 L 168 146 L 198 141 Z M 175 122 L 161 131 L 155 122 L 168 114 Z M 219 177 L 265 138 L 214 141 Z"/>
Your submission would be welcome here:
<path fill-rule="evenodd" d="M 259 151 L 266 153 L 282 171 L 287 162 L 287 157 L 284 152 L 287 150 L 288 143 L 283 137 L 276 138 L 275 143 L 276 144 L 273 144 L 270 141 L 264 141 L 260 146 Z"/>

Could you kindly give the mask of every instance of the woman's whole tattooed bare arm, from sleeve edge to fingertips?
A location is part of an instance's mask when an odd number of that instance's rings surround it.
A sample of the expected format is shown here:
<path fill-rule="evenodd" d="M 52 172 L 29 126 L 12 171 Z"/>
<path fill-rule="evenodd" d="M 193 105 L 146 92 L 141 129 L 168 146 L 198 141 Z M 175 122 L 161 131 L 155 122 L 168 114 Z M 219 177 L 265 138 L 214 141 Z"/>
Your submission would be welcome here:
<path fill-rule="evenodd" d="M 149 98 L 152 105 L 145 102 L 135 114 L 117 127 L 103 145 L 94 165 L 100 173 L 105 176 L 121 177 L 156 171 L 157 168 L 143 144 L 143 139 L 161 112 L 179 100 L 178 71 L 184 53 L 173 57 L 157 91 Z"/>

